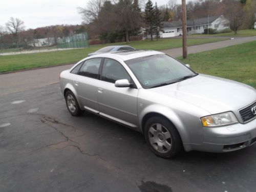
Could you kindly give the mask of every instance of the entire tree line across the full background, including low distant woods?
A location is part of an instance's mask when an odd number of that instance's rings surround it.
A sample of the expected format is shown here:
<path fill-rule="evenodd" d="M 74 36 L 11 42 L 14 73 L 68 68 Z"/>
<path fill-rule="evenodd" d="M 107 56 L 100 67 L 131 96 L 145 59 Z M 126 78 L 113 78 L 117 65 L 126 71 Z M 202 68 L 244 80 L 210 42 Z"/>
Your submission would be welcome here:
<path fill-rule="evenodd" d="M 251 29 L 256 21 L 255 0 L 198 0 L 187 2 L 187 19 L 224 15 L 234 32 Z M 127 41 L 132 37 L 148 35 L 157 39 L 163 22 L 181 20 L 181 5 L 169 0 L 166 5 L 153 5 L 151 0 L 90 0 L 86 7 L 78 8 L 82 25 L 57 25 L 25 30 L 24 22 L 10 18 L 0 26 L 0 43 L 27 45 L 38 38 L 54 38 L 88 32 L 89 38 L 100 38 L 102 43 Z M 146 34 L 143 34 L 145 32 Z"/>

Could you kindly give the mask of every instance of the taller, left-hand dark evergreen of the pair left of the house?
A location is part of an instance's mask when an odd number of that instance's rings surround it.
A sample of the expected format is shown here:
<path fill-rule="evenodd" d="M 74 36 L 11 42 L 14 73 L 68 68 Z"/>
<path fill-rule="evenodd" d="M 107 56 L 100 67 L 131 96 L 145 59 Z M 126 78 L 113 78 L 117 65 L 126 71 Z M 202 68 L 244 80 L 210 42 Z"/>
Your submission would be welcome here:
<path fill-rule="evenodd" d="M 153 40 L 154 33 L 154 22 L 155 22 L 155 9 L 153 7 L 152 1 L 148 0 L 145 7 L 144 22 L 146 24 L 146 32 L 150 33 L 151 40 Z"/>

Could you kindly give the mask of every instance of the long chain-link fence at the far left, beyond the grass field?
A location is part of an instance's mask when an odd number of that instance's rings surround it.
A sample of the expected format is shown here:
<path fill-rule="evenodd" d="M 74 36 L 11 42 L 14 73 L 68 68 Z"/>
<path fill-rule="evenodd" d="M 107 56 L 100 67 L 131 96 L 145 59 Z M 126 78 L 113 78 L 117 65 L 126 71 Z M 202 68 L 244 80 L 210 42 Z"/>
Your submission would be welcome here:
<path fill-rule="evenodd" d="M 10 38 L 10 37 L 9 37 Z M 72 34 L 63 37 L 47 38 L 17 38 L 16 42 L 12 39 L 0 38 L 0 55 L 12 55 L 19 53 L 36 53 L 55 51 L 62 49 L 88 48 L 87 32 Z"/>

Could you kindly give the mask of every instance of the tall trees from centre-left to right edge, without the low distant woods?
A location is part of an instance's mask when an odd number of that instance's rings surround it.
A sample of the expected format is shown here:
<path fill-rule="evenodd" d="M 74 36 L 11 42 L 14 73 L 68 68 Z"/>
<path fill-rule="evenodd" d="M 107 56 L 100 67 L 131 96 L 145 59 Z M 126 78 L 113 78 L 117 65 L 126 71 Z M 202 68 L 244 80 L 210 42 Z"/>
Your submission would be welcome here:
<path fill-rule="evenodd" d="M 90 0 L 85 8 L 79 8 L 89 37 L 100 37 L 102 42 L 129 42 L 130 36 L 141 34 L 143 28 L 153 40 L 162 30 L 163 22 L 182 19 L 181 5 L 169 0 L 158 7 L 151 0 Z M 224 15 L 235 33 L 238 29 L 251 29 L 255 22 L 255 0 L 198 0 L 188 1 L 187 19 Z"/>

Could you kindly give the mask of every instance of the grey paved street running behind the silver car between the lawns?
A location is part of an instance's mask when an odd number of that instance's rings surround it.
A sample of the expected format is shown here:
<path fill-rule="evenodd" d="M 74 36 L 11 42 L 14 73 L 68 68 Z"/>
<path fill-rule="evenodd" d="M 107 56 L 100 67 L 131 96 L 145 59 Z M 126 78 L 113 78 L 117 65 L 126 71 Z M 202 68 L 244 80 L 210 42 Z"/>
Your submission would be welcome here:
<path fill-rule="evenodd" d="M 197 53 L 212 49 L 228 47 L 252 40 L 256 40 L 256 36 L 212 42 L 210 44 L 203 44 L 197 46 L 190 46 L 188 47 L 188 53 Z M 182 54 L 182 48 L 163 50 L 163 52 L 173 57 L 178 57 Z M 5 93 L 41 87 L 47 84 L 58 82 L 59 73 L 63 70 L 69 69 L 71 66 L 72 65 L 58 66 L 45 69 L 36 69 L 30 71 L 2 74 L 0 75 L 0 95 Z"/>

